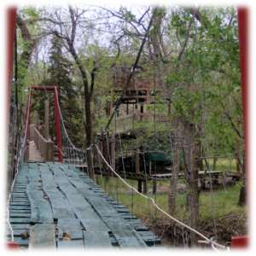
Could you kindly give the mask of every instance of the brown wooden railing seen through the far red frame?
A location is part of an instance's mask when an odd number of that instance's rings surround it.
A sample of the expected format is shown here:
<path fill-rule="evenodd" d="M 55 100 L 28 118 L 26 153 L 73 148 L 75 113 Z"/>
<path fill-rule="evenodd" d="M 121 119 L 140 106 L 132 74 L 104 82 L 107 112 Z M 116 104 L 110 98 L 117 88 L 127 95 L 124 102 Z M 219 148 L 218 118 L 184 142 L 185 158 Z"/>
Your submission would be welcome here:
<path fill-rule="evenodd" d="M 47 141 L 44 137 L 39 133 L 39 131 L 34 127 L 34 141 L 37 145 L 38 150 L 43 155 L 44 160 L 47 162 L 54 160 L 54 143 L 52 141 Z"/>

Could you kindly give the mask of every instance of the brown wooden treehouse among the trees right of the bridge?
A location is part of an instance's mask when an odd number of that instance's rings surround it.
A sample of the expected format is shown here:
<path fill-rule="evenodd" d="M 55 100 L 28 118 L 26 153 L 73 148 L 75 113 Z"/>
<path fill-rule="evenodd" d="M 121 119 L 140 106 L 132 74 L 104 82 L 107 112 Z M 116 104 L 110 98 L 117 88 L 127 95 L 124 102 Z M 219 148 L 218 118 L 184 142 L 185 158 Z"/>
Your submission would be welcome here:
<path fill-rule="evenodd" d="M 131 72 L 131 67 L 120 67 L 119 72 L 115 73 L 113 85 L 109 90 L 111 92 L 110 108 L 107 111 L 109 115 L 113 114 L 114 108 L 119 104 L 119 96 L 125 90 L 129 72 Z M 155 104 L 155 93 L 162 96 L 162 92 L 160 84 L 156 83 L 156 79 L 154 80 L 153 77 L 143 74 L 143 67 L 137 69 L 120 100 L 122 104 L 119 107 L 117 117 L 114 119 L 115 131 L 113 132 L 113 143 L 111 143 L 109 152 L 115 170 L 137 173 L 147 172 L 148 174 L 151 174 L 151 172 L 170 172 L 172 154 L 167 149 L 169 146 L 164 152 L 161 152 L 161 150 L 154 151 L 154 145 L 152 145 L 151 149 L 146 149 L 142 145 L 138 145 L 137 141 L 142 132 L 145 132 L 143 128 L 138 128 L 142 122 L 144 125 L 149 125 L 150 122 L 152 125 L 154 123 L 155 125 L 170 125 L 167 119 L 167 114 L 171 112 L 169 99 L 167 99 L 168 108 L 166 113 L 147 111 L 150 105 Z M 164 99 L 164 96 L 162 98 Z M 135 122 L 137 123 L 136 127 Z M 121 145 L 122 150 L 120 149 L 119 137 L 122 138 L 122 142 L 125 142 Z M 134 141 L 136 141 L 136 145 L 131 143 Z M 128 144 L 130 144 L 130 147 L 125 147 Z"/>

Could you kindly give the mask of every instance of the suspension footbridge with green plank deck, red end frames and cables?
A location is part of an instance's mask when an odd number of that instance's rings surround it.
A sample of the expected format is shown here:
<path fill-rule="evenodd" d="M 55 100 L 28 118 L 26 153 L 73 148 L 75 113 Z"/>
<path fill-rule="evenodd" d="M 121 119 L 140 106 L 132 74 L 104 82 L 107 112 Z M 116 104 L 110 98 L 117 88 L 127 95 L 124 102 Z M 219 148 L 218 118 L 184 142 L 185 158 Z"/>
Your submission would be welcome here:
<path fill-rule="evenodd" d="M 29 142 L 32 90 L 41 90 L 40 88 L 31 87 L 29 89 L 26 123 L 22 137 L 20 137 L 19 130 L 17 101 L 11 108 L 12 119 L 8 118 L 16 4 L 8 2 L 5 5 L 1 27 L 5 38 L 2 42 L 4 43 L 3 62 L 7 63 L 3 65 L 3 92 L 1 95 L 1 109 L 5 109 L 1 117 L 1 121 L 3 119 L 3 129 L 1 129 L 1 207 L 3 210 L 1 248 L 3 252 L 10 255 L 168 254 L 166 247 L 161 246 L 160 238 L 148 230 L 142 221 L 137 219 L 119 201 L 104 192 L 87 174 L 76 168 L 76 166 L 86 166 L 86 160 L 90 158 L 92 160 L 95 156 L 93 154 L 98 154 L 99 159 L 104 161 L 106 169 L 105 171 L 102 169 L 101 161 L 99 161 L 99 166 L 92 166 L 94 174 L 96 171 L 101 175 L 103 172 L 106 174 L 108 169 L 112 176 L 123 179 L 119 175 L 121 173 L 114 171 L 112 160 L 104 159 L 98 144 L 91 145 L 97 149 L 96 153 L 93 153 L 91 146 L 80 149 L 70 141 L 61 117 L 56 86 L 43 89 L 53 90 L 55 94 L 55 145 L 47 136 L 43 137 L 40 131 L 37 132 L 37 138 Z M 255 48 L 255 42 L 251 37 L 253 34 L 252 24 L 254 24 L 252 20 L 255 20 L 255 14 L 246 3 L 239 1 L 238 7 L 250 234 L 233 237 L 230 246 L 220 245 L 198 230 L 173 218 L 161 210 L 152 198 L 143 195 L 148 198 L 148 201 L 153 201 L 154 207 L 168 218 L 185 227 L 189 232 L 192 231 L 201 236 L 203 241 L 199 242 L 212 246 L 212 249 L 219 254 L 230 253 L 230 249 L 232 253 L 252 252 L 255 246 L 255 145 L 250 141 L 251 137 L 255 136 L 252 135 L 255 130 L 255 122 L 253 122 L 255 94 L 252 93 L 255 90 L 253 84 L 255 76 L 253 77 L 254 55 L 251 50 Z M 150 20 L 147 31 L 152 23 L 153 18 Z M 145 44 L 146 38 L 147 33 L 143 38 L 143 44 Z M 125 85 L 125 90 L 136 70 L 143 44 Z M 17 79 L 15 81 L 17 82 Z M 17 87 L 15 89 L 17 96 Z M 107 128 L 118 111 L 125 90 L 116 104 Z M 145 118 L 145 116 L 141 114 L 141 118 Z M 161 119 L 161 121 L 166 122 L 165 119 Z M 123 126 L 122 131 L 125 131 L 125 120 L 123 120 Z M 9 133 L 7 128 L 11 130 Z M 105 132 L 107 132 L 107 128 Z M 253 142 L 255 143 L 255 140 Z M 57 148 L 57 159 L 55 159 L 54 148 Z M 5 155 L 6 152 L 8 155 Z M 9 155 L 11 155 L 10 159 Z M 110 155 L 109 152 L 108 155 Z M 3 172 L 5 162 L 7 165 Z M 140 176 L 138 173 L 136 175 Z M 123 176 L 126 178 L 125 173 Z M 151 178 L 160 178 L 160 176 L 153 175 Z M 142 179 L 145 183 L 148 181 L 147 176 L 142 176 Z M 131 188 L 131 186 L 129 187 Z M 138 191 L 137 193 L 140 194 Z M 20 252 L 21 247 L 22 252 Z M 221 253 L 218 248 L 225 253 Z"/>

